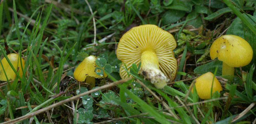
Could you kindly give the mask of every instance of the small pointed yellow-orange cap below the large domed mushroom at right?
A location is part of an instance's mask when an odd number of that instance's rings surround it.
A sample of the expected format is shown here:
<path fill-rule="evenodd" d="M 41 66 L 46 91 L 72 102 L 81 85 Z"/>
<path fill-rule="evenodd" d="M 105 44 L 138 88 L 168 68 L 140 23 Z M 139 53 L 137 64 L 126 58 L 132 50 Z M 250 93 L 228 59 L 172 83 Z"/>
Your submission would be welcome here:
<path fill-rule="evenodd" d="M 196 91 L 201 99 L 210 99 L 211 98 L 211 85 L 213 80 L 214 74 L 211 72 L 207 72 L 205 74 L 202 74 L 200 77 L 196 78 L 195 86 Z M 193 93 L 193 88 L 192 88 Z M 213 85 L 212 85 L 212 93 L 215 93 L 216 91 L 220 92 L 222 91 L 222 87 L 220 85 L 220 82 L 216 77 L 214 77 Z"/>

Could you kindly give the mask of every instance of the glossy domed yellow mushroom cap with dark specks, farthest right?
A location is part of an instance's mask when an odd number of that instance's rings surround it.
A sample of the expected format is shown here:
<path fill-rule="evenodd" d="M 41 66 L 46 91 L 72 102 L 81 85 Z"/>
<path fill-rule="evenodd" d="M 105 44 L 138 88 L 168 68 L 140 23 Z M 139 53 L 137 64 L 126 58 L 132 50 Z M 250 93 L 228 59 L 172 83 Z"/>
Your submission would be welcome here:
<path fill-rule="evenodd" d="M 218 57 L 231 67 L 248 65 L 252 60 L 252 47 L 243 38 L 236 35 L 223 35 L 216 39 L 210 48 L 212 60 Z"/>

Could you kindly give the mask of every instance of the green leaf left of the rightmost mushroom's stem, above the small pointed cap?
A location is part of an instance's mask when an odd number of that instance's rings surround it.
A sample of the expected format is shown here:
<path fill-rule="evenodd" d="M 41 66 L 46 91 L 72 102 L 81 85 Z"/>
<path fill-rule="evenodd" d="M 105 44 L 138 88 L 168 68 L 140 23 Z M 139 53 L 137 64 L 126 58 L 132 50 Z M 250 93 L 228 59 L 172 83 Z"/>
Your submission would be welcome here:
<path fill-rule="evenodd" d="M 221 74 L 221 72 L 222 72 L 222 61 L 219 61 L 219 60 L 212 61 L 212 62 L 209 62 L 207 64 L 198 66 L 197 68 L 195 68 L 194 72 L 199 73 L 199 74 L 204 74 L 206 72 L 214 73 L 216 66 L 218 66 L 216 76 L 221 76 L 222 75 Z"/>

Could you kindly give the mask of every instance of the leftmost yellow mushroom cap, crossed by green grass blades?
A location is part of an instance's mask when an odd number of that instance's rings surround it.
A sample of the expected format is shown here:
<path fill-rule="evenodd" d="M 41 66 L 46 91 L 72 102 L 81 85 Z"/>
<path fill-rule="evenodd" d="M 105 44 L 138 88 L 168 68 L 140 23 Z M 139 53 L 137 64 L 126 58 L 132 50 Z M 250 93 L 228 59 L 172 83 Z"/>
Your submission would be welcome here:
<path fill-rule="evenodd" d="M 19 76 L 22 77 L 23 72 L 21 70 L 19 55 L 16 54 L 16 53 L 11 53 L 11 54 L 8 54 L 7 57 L 10 60 L 10 62 L 12 63 L 13 67 L 16 69 L 16 71 L 17 71 L 17 67 L 19 67 Z M 22 60 L 22 62 L 21 62 L 22 67 L 24 69 L 25 61 L 23 59 L 21 59 L 21 60 Z M 16 77 L 16 74 L 13 71 L 13 69 L 11 68 L 11 66 L 9 65 L 9 63 L 7 62 L 6 58 L 3 58 L 1 61 L 2 61 L 2 64 L 3 64 L 4 70 L 3 70 L 2 66 L 0 65 L 0 80 L 1 81 L 7 81 L 7 79 L 5 77 L 5 74 L 4 74 L 4 71 L 5 71 L 5 73 L 8 77 L 8 80 L 14 80 L 15 77 Z M 19 61 L 19 64 L 18 64 L 18 61 Z"/>

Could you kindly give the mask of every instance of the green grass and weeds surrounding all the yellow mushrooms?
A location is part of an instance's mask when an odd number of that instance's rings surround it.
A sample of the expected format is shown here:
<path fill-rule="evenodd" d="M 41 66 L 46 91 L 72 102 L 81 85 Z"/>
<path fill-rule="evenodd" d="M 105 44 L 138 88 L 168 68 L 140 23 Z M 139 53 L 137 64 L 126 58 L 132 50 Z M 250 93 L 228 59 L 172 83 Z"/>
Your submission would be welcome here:
<path fill-rule="evenodd" d="M 10 68 L 14 80 L 1 81 L 0 123 L 256 123 L 256 55 L 235 76 L 222 76 L 222 62 L 209 56 L 225 34 L 244 38 L 255 53 L 255 17 L 255 1 L 242 0 L 2 0 L 1 59 L 17 53 L 25 64 Z M 119 39 L 142 24 L 161 27 L 177 42 L 176 78 L 164 89 L 138 74 L 137 65 L 127 72 L 132 78 L 119 76 Z M 95 79 L 96 87 L 73 78 L 89 55 L 101 59 L 97 74 L 108 75 Z M 206 72 L 223 90 L 202 100 L 189 86 Z"/>

